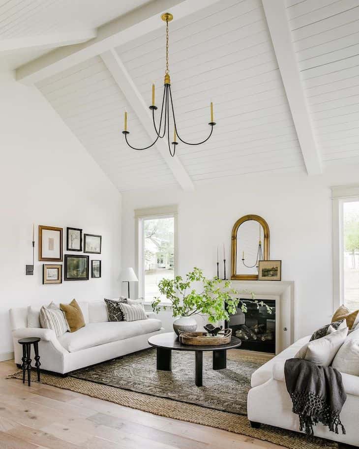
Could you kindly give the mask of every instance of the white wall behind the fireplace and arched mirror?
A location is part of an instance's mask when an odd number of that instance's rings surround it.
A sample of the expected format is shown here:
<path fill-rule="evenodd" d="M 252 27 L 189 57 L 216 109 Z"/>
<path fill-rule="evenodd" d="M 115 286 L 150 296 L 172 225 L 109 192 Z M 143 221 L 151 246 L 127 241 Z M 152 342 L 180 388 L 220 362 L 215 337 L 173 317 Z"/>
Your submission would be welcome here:
<path fill-rule="evenodd" d="M 270 257 L 282 260 L 282 280 L 295 281 L 296 336 L 309 334 L 328 323 L 332 314 L 329 187 L 350 182 L 358 183 L 355 167 L 316 177 L 271 174 L 232 178 L 202 185 L 194 192 L 125 193 L 122 264 L 135 265 L 134 209 L 177 203 L 178 273 L 197 266 L 207 276 L 216 274 L 217 244 L 225 243 L 230 258 L 235 221 L 242 215 L 258 214 L 269 224 Z"/>

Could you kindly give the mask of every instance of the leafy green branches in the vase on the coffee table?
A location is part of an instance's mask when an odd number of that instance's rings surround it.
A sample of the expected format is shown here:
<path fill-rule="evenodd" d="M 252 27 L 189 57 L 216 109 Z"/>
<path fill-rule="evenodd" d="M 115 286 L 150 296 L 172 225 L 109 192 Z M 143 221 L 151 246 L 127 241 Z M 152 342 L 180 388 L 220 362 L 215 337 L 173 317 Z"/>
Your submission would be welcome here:
<path fill-rule="evenodd" d="M 200 293 L 193 287 L 194 282 L 201 283 Z M 247 312 L 246 304 L 236 298 L 236 295 L 243 292 L 231 288 L 231 281 L 218 277 L 207 279 L 203 271 L 197 267 L 187 273 L 184 280 L 181 276 L 176 276 L 175 279 L 162 279 L 158 283 L 158 289 L 171 302 L 174 318 L 201 314 L 208 315 L 210 323 L 216 323 L 229 320 L 230 315 L 237 313 L 238 306 L 243 313 Z M 270 307 L 263 301 L 256 301 L 253 292 L 251 295 L 250 302 L 257 304 L 257 307 L 266 306 L 271 313 Z M 161 305 L 159 298 L 154 298 L 151 305 L 156 313 L 162 309 L 166 310 L 166 306 Z"/>

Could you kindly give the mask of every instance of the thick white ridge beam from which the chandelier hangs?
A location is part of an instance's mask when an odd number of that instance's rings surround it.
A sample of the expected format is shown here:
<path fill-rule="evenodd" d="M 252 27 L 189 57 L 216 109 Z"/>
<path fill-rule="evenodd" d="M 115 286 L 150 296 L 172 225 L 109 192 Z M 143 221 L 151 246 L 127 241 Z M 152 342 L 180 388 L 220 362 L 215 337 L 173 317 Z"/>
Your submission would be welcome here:
<path fill-rule="evenodd" d="M 216 3 L 218 0 L 154 0 L 97 29 L 97 37 L 89 42 L 61 47 L 47 55 L 30 61 L 16 70 L 16 79 L 24 84 L 35 84 L 116 48 L 150 31 L 163 28 L 160 15 L 170 11 L 175 20 Z"/>

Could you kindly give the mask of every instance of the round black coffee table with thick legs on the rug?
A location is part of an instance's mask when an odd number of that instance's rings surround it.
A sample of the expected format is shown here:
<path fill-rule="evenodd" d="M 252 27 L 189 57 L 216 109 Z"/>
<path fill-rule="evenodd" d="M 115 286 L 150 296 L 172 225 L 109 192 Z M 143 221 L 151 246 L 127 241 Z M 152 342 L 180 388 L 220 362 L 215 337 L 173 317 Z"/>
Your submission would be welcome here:
<path fill-rule="evenodd" d="M 227 349 L 239 348 L 239 338 L 232 337 L 231 342 L 225 345 L 194 346 L 179 342 L 175 332 L 159 333 L 149 338 L 149 345 L 157 348 L 157 369 L 171 371 L 172 351 L 193 351 L 196 355 L 196 385 L 202 387 L 203 378 L 203 351 L 213 351 L 213 369 L 224 369 L 227 366 Z"/>

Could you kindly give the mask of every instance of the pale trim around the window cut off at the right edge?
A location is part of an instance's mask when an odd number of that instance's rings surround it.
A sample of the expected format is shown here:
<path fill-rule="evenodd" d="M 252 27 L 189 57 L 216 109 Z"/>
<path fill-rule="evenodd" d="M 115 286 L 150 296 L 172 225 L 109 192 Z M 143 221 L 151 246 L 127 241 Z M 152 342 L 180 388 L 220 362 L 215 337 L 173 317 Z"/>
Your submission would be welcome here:
<path fill-rule="evenodd" d="M 359 201 L 359 185 L 331 187 L 332 200 L 332 252 L 333 252 L 333 311 L 344 303 L 343 204 Z"/>

